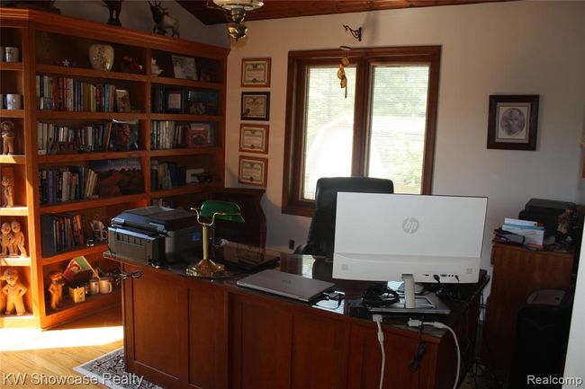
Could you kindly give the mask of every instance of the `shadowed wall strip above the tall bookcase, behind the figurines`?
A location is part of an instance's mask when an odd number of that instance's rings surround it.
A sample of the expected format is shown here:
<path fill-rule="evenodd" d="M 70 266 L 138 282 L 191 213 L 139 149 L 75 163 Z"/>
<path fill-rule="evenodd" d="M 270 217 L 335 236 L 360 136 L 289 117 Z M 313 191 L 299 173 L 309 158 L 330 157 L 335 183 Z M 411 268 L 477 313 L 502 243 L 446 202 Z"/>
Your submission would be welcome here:
<path fill-rule="evenodd" d="M 175 1 L 163 0 L 161 4 L 168 8 L 168 14 L 179 22 L 181 39 L 229 47 L 225 25 L 206 26 Z M 108 8 L 101 0 L 58 0 L 55 6 L 61 14 L 80 19 L 107 23 L 110 18 Z M 146 0 L 124 1 L 121 4 L 120 22 L 123 27 L 148 32 L 152 32 L 155 24 Z"/>

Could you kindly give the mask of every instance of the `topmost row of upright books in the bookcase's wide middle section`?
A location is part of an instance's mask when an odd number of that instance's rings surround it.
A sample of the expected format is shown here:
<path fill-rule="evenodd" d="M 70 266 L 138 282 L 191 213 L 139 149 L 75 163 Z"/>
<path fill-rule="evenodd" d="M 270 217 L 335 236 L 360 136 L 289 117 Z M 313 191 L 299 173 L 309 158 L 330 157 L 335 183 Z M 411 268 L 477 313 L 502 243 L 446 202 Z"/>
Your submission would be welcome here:
<path fill-rule="evenodd" d="M 36 76 L 37 108 L 45 111 L 112 112 L 116 86 L 52 75 Z"/>

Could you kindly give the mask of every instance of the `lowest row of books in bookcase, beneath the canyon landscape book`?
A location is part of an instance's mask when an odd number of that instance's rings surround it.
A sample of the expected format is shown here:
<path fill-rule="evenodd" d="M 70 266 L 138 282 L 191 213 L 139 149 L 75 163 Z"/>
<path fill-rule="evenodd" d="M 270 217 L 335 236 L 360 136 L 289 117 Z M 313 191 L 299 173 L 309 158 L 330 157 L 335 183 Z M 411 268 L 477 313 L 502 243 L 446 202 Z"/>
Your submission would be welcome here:
<path fill-rule="evenodd" d="M 43 257 L 85 246 L 85 217 L 81 214 L 40 216 Z"/>

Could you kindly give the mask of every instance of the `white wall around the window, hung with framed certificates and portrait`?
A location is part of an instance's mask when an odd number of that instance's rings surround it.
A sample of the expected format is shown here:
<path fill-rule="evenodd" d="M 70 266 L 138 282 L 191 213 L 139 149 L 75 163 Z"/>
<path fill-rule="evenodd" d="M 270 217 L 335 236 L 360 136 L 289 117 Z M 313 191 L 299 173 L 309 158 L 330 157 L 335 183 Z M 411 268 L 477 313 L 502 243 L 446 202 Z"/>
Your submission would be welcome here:
<path fill-rule="evenodd" d="M 310 219 L 281 213 L 289 50 L 441 45 L 433 193 L 489 197 L 482 267 L 492 230 L 530 198 L 583 199 L 585 2 L 505 2 L 247 22 L 228 63 L 226 185 L 238 186 L 241 59 L 272 58 L 267 245 L 303 243 Z M 354 40 L 342 27 L 363 26 Z M 246 90 L 262 90 L 250 89 Z M 539 94 L 536 151 L 488 150 L 490 94 Z"/>

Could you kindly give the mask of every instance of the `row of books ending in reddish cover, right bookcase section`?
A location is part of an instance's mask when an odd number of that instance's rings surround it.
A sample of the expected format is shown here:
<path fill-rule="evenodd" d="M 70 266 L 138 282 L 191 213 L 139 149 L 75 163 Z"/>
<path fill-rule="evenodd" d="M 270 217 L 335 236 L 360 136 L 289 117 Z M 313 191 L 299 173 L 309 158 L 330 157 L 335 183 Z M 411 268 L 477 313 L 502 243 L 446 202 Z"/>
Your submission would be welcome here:
<path fill-rule="evenodd" d="M 214 146 L 213 123 L 186 123 L 172 120 L 153 121 L 150 126 L 152 150 Z"/>

